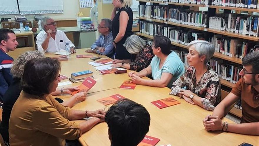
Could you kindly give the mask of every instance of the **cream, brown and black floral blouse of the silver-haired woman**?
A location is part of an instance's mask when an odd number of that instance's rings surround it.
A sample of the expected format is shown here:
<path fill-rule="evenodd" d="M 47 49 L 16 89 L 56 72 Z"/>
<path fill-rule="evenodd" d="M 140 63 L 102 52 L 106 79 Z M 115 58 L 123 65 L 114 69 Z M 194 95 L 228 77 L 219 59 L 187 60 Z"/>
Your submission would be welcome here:
<path fill-rule="evenodd" d="M 185 73 L 172 84 L 169 94 L 176 95 L 181 88 L 186 86 L 186 90 L 190 90 L 202 98 L 201 103 L 204 109 L 213 111 L 221 99 L 220 77 L 208 65 L 207 71 L 196 85 L 195 70 L 193 66 L 188 66 Z"/>

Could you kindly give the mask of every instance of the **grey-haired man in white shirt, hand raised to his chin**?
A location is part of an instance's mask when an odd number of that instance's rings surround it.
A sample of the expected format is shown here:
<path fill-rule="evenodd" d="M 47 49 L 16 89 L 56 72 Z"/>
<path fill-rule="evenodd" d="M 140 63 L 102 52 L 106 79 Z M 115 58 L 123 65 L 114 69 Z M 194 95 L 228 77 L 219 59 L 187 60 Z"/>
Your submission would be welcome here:
<path fill-rule="evenodd" d="M 66 34 L 57 30 L 57 23 L 51 17 L 45 17 L 41 20 L 41 27 L 44 29 L 37 35 L 36 44 L 39 51 L 57 52 L 60 49 L 65 50 L 65 44 L 68 43 L 70 52 L 75 53 L 76 47 L 67 38 Z"/>

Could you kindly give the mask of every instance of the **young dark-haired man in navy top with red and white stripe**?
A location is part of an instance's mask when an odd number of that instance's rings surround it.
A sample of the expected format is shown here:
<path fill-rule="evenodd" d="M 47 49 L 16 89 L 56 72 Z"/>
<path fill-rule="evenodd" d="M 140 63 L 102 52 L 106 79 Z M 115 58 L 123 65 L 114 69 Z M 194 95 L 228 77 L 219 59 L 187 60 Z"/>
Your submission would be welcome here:
<path fill-rule="evenodd" d="M 10 69 L 14 61 L 7 53 L 14 51 L 18 45 L 15 33 L 9 29 L 0 29 L 0 101 L 8 86 L 13 82 Z"/>

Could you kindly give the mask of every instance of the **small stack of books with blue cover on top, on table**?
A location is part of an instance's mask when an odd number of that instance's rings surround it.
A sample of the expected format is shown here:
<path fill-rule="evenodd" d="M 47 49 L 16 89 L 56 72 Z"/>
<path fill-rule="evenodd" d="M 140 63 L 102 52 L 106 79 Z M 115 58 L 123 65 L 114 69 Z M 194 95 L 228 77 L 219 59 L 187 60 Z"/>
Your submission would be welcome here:
<path fill-rule="evenodd" d="M 84 81 L 86 78 L 94 79 L 93 72 L 90 70 L 84 70 L 76 73 L 71 73 L 71 78 L 69 78 L 69 80 L 73 83 L 77 83 Z"/>

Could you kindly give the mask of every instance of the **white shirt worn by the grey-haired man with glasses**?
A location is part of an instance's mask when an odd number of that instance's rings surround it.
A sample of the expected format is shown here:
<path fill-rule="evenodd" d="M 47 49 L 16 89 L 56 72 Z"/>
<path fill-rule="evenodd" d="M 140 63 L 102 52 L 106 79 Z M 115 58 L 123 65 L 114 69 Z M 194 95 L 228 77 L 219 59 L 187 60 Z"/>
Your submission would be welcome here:
<path fill-rule="evenodd" d="M 43 30 L 37 35 L 36 44 L 38 46 L 39 51 L 44 51 L 41 47 L 41 44 L 47 38 L 47 33 Z M 55 40 L 50 37 L 49 38 L 49 45 L 46 52 L 57 52 L 60 49 L 65 49 L 65 43 L 69 43 L 70 47 L 75 47 L 74 44 L 67 38 L 66 34 L 60 30 L 57 30 Z"/>

